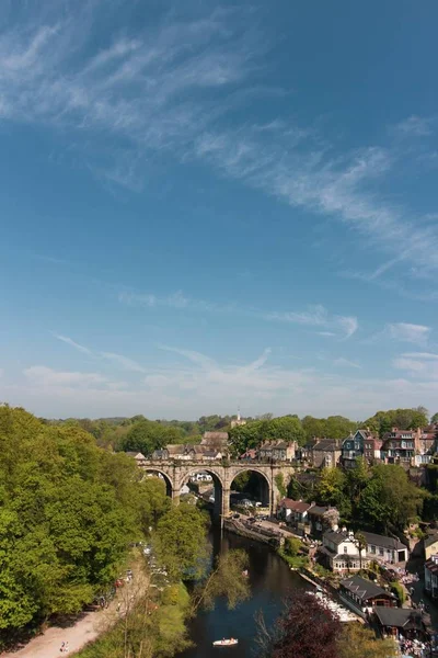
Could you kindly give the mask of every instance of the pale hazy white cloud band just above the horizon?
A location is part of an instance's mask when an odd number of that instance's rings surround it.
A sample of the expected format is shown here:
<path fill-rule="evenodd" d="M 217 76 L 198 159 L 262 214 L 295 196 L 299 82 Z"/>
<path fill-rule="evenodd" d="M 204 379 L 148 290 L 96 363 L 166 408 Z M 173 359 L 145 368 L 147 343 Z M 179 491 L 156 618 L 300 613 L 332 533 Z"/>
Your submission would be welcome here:
<path fill-rule="evenodd" d="M 201 413 L 230 413 L 239 404 L 244 413 L 252 416 L 269 410 L 276 415 L 342 413 L 364 419 L 377 408 L 425 405 L 434 409 L 438 395 L 438 372 L 434 370 L 438 362 L 430 359 L 424 360 L 430 364 L 429 370 L 400 362 L 393 365 L 404 371 L 402 377 L 367 378 L 356 376 L 358 371 L 353 368 L 334 373 L 328 359 L 321 362 L 328 367 L 273 365 L 268 350 L 238 364 L 193 350 L 168 351 L 182 361 L 151 367 L 143 382 L 135 385 L 96 372 L 35 365 L 25 368 L 21 383 L 1 379 L 0 399 L 25 405 L 46 417 L 145 413 L 151 418 L 193 419 Z"/>

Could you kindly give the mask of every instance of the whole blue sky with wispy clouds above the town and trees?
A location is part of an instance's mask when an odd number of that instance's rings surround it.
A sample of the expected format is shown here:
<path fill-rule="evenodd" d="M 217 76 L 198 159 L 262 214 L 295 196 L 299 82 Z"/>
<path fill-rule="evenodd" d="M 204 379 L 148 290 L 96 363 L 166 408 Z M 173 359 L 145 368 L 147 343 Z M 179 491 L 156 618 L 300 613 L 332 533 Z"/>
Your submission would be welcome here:
<path fill-rule="evenodd" d="M 0 400 L 435 412 L 437 21 L 3 0 Z"/>

